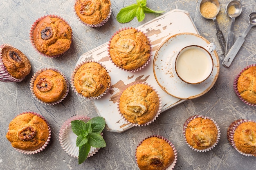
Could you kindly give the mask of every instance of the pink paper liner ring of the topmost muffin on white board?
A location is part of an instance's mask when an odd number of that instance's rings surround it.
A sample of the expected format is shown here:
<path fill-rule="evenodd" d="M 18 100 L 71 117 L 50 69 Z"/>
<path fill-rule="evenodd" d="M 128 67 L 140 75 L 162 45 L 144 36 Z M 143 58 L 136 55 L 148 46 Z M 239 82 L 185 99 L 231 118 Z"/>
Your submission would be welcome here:
<path fill-rule="evenodd" d="M 120 33 L 121 31 L 124 31 L 124 30 L 126 30 L 126 29 L 135 29 L 135 28 L 133 28 L 133 27 L 125 27 L 125 28 L 119 29 L 118 31 L 116 31 L 116 32 L 114 33 L 114 35 L 112 35 L 112 37 L 110 38 L 110 41 L 108 42 L 108 57 L 110 58 L 111 61 L 112 61 L 112 58 L 111 58 L 110 52 L 109 52 L 109 51 L 110 51 L 110 43 L 111 43 L 111 40 L 112 40 L 112 38 L 113 38 L 115 35 L 117 35 L 117 34 Z M 141 32 L 141 33 L 143 33 L 144 35 L 146 35 L 143 31 L 140 31 L 140 30 L 138 30 L 138 29 L 136 29 L 136 30 L 137 30 L 137 32 Z M 148 57 L 148 61 L 147 61 L 144 65 L 142 65 L 142 66 L 140 66 L 139 68 L 134 69 L 134 70 L 126 70 L 126 69 L 124 69 L 124 68 L 122 68 L 122 67 L 117 66 L 113 61 L 112 61 L 112 63 L 113 63 L 116 67 L 120 68 L 121 70 L 128 71 L 128 72 L 135 72 L 135 71 L 139 71 L 139 70 L 143 69 L 143 68 L 150 62 L 150 58 L 152 57 L 151 42 L 150 42 L 150 40 L 149 40 L 149 38 L 148 38 L 147 35 L 146 35 L 146 37 L 147 37 L 148 43 L 149 43 L 149 45 L 150 45 L 150 56 Z"/>

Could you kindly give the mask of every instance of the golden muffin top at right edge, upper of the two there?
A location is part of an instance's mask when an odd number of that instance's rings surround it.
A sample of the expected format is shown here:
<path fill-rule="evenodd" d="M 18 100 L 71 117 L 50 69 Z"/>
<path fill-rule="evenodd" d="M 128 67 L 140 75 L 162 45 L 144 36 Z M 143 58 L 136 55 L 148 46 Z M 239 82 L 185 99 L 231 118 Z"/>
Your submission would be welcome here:
<path fill-rule="evenodd" d="M 238 77 L 237 90 L 241 97 L 256 104 L 256 66 L 249 67 Z"/>

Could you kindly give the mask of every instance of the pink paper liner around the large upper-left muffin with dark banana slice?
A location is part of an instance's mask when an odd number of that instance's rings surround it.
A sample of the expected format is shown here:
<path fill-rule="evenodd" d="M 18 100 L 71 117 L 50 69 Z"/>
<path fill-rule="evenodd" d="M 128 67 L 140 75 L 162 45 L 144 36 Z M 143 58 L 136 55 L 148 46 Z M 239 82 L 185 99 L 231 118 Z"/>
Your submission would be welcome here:
<path fill-rule="evenodd" d="M 66 24 L 68 24 L 68 23 L 66 22 L 66 20 L 64 20 L 63 18 L 61 18 L 61 17 L 59 17 L 59 16 L 57 16 L 57 15 L 44 15 L 43 17 L 38 18 L 38 19 L 34 22 L 34 24 L 31 26 L 30 33 L 29 33 L 29 38 L 30 38 L 30 42 L 31 42 L 32 46 L 34 47 L 34 49 L 35 49 L 39 54 L 41 54 L 41 55 L 43 55 L 43 56 L 45 56 L 45 57 L 55 58 L 55 57 L 58 57 L 58 56 L 62 55 L 62 54 L 65 53 L 66 51 L 64 51 L 63 53 L 58 54 L 58 55 L 50 56 L 50 55 L 46 55 L 46 54 L 44 54 L 44 53 L 38 51 L 38 49 L 36 48 L 36 46 L 35 46 L 35 44 L 34 44 L 34 30 L 35 30 L 37 24 L 38 24 L 41 20 L 43 20 L 45 17 L 47 17 L 47 16 L 50 16 L 50 17 L 52 17 L 52 18 L 59 18 L 59 19 L 63 20 Z M 69 25 L 69 24 L 68 24 L 68 25 Z M 73 37 L 73 35 L 72 35 L 72 37 Z M 72 41 L 72 38 L 71 38 L 71 41 Z"/>

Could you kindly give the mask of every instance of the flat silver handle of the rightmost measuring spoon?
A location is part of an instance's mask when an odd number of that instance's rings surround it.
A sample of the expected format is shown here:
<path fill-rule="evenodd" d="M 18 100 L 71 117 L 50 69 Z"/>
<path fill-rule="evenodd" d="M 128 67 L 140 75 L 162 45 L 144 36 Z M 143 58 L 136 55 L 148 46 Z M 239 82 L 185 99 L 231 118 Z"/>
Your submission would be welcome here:
<path fill-rule="evenodd" d="M 223 60 L 223 62 L 222 62 L 223 66 L 229 67 L 231 65 L 231 62 L 234 60 L 234 58 L 236 57 L 236 54 L 238 53 L 238 51 L 240 50 L 241 46 L 245 42 L 245 36 L 249 32 L 249 30 L 252 28 L 252 26 L 253 25 L 249 24 L 249 26 L 247 27 L 245 32 L 240 37 L 237 38 L 236 42 L 231 47 L 229 53 L 227 53 L 225 59 Z"/>

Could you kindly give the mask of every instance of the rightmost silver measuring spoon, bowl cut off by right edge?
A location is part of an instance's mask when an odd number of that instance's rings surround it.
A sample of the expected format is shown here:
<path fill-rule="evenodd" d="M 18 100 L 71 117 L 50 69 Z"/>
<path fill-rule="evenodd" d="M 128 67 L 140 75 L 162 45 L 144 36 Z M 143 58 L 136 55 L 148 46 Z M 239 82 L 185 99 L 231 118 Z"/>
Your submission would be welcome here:
<path fill-rule="evenodd" d="M 236 42 L 234 43 L 234 45 L 229 50 L 229 53 L 227 53 L 227 56 L 225 57 L 225 59 L 222 62 L 223 66 L 229 67 L 231 65 L 231 62 L 234 60 L 234 58 L 236 57 L 236 54 L 238 53 L 239 49 L 241 48 L 241 46 L 245 42 L 245 36 L 247 35 L 249 30 L 253 26 L 256 26 L 256 12 L 253 12 L 248 16 L 248 21 L 249 21 L 249 25 L 247 26 L 247 29 L 245 30 L 245 32 L 240 37 L 237 38 Z"/>

